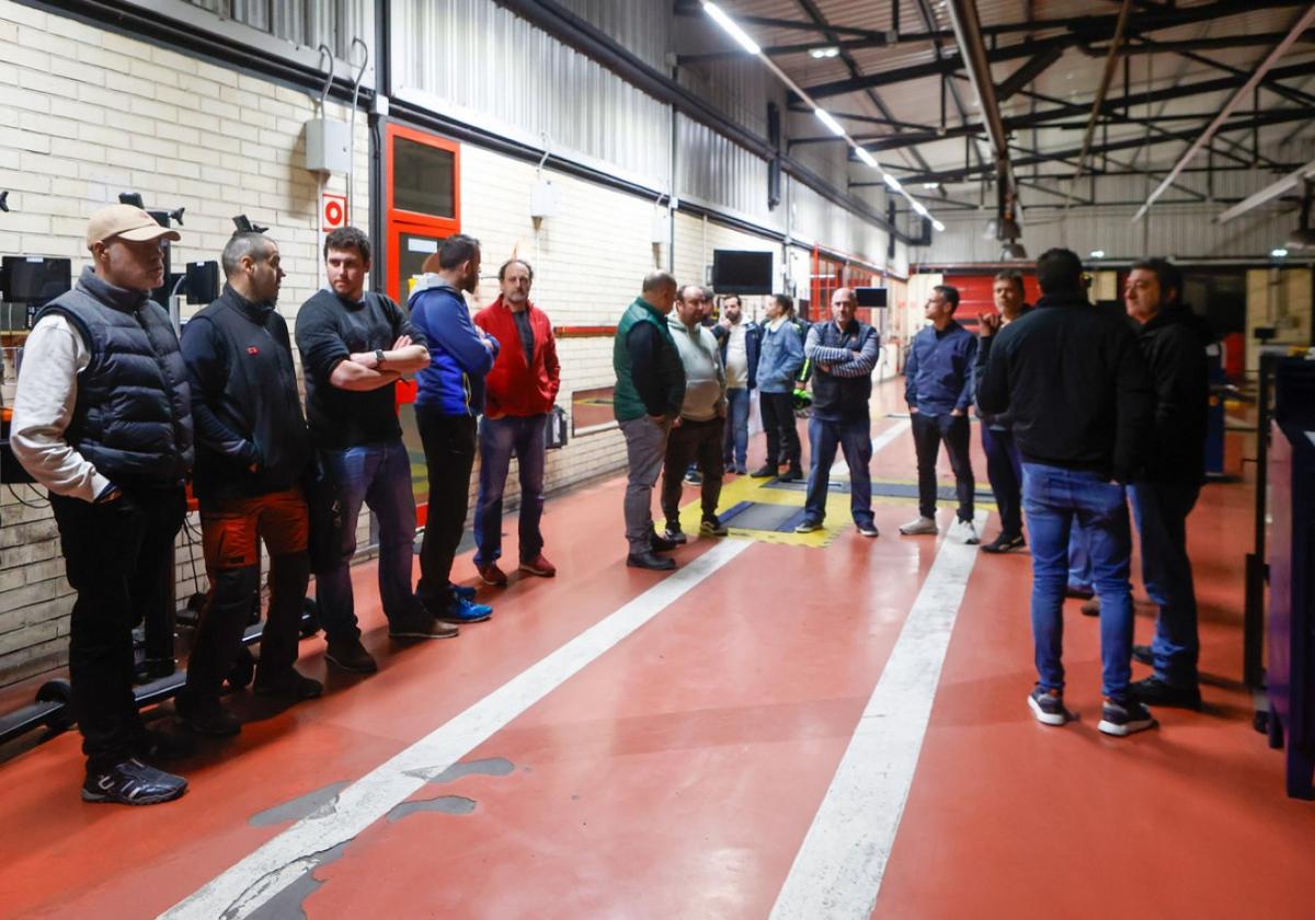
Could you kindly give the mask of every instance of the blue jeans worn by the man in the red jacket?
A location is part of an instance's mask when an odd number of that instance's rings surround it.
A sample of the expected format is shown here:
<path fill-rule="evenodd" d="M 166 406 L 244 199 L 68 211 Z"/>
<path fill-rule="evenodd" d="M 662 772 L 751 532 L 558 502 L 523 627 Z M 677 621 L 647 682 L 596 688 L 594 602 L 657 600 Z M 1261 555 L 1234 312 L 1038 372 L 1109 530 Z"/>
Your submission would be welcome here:
<path fill-rule="evenodd" d="M 489 565 L 502 556 L 502 493 L 512 456 L 521 463 L 521 560 L 533 561 L 543 551 L 543 467 L 546 415 L 480 421 L 480 494 L 475 499 L 475 564 Z"/>

